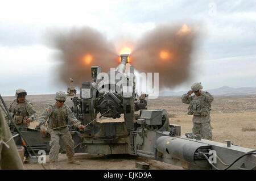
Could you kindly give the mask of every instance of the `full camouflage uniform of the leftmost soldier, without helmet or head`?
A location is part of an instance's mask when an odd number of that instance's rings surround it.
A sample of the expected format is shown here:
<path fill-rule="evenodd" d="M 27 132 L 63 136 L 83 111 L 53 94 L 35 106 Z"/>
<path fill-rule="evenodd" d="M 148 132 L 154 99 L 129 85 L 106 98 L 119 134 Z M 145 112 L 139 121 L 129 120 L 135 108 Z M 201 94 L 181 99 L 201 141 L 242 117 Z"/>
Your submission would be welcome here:
<path fill-rule="evenodd" d="M 9 108 L 10 113 L 13 115 L 15 124 L 20 131 L 27 131 L 30 123 L 26 123 L 27 117 L 30 122 L 36 119 L 36 111 L 33 109 L 32 104 L 26 99 L 23 103 L 18 103 L 18 99 L 14 99 Z M 6 119 L 9 119 L 6 117 Z"/>

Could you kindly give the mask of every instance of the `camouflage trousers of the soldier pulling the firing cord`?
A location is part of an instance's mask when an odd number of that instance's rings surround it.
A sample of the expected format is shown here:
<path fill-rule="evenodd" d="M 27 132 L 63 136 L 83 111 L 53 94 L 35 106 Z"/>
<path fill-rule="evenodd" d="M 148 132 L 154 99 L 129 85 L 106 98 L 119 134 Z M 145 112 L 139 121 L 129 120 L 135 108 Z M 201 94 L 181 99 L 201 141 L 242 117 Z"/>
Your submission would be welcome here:
<path fill-rule="evenodd" d="M 60 138 L 63 140 L 65 145 L 65 150 L 67 151 L 67 157 L 71 158 L 75 154 L 74 146 L 75 142 L 72 139 L 71 134 L 68 131 L 68 127 L 64 129 L 49 129 L 49 134 L 51 134 L 51 141 L 49 145 L 51 146 L 51 150 L 49 152 L 49 160 L 50 161 L 57 161 L 59 158 L 59 151 L 60 151 Z"/>

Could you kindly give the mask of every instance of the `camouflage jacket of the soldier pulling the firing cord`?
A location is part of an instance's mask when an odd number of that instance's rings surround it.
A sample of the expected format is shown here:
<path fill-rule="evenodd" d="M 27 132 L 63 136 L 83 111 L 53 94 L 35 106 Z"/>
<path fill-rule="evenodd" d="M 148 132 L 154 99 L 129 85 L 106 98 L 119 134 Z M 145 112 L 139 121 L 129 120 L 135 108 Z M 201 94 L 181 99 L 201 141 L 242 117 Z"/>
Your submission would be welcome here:
<path fill-rule="evenodd" d="M 46 110 L 42 112 L 42 115 L 39 118 L 39 126 L 40 128 L 45 128 L 46 121 L 48 120 L 48 128 L 58 128 L 63 129 L 65 125 L 68 125 L 68 120 L 73 124 L 80 126 L 81 122 L 76 119 L 73 115 L 71 109 L 64 104 L 60 108 L 56 106 L 56 103 L 49 105 Z"/>

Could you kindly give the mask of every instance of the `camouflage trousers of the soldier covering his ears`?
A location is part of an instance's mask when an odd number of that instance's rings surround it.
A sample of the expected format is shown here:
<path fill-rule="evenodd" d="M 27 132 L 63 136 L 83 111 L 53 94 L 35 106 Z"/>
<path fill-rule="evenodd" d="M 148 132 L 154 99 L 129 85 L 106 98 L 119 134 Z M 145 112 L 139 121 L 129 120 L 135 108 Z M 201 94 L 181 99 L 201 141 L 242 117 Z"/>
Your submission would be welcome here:
<path fill-rule="evenodd" d="M 193 123 L 193 134 L 201 134 L 205 140 L 212 140 L 210 123 Z"/>

